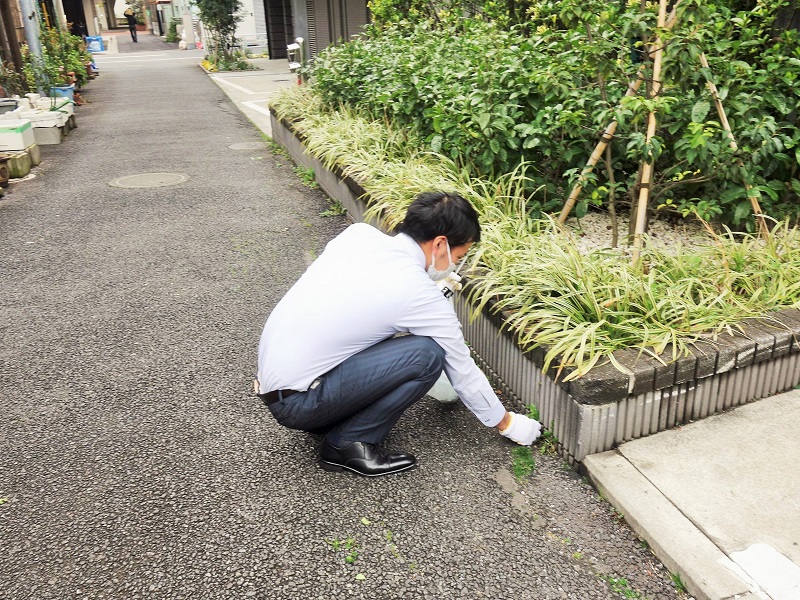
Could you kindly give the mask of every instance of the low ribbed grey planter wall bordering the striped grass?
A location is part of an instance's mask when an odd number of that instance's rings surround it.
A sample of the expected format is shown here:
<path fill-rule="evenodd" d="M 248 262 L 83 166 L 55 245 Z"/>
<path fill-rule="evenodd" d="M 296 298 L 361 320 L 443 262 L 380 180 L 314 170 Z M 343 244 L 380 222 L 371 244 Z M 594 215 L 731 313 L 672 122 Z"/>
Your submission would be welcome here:
<path fill-rule="evenodd" d="M 366 193 L 356 181 L 326 169 L 305 153 L 291 124 L 271 113 L 273 140 L 298 165 L 314 169 L 317 182 L 356 221 L 364 221 Z M 372 223 L 375 225 L 375 223 Z M 468 291 L 465 289 L 465 292 Z M 720 336 L 696 346 L 692 356 L 662 361 L 635 350 L 615 353 L 626 372 L 610 364 L 568 383 L 543 373 L 545 351 L 522 352 L 503 328 L 503 316 L 487 306 L 470 319 L 466 293 L 456 312 L 475 359 L 517 409 L 536 405 L 573 466 L 589 454 L 664 431 L 800 384 L 800 310 L 743 323 L 744 334 Z M 666 363 L 666 364 L 664 364 Z"/>

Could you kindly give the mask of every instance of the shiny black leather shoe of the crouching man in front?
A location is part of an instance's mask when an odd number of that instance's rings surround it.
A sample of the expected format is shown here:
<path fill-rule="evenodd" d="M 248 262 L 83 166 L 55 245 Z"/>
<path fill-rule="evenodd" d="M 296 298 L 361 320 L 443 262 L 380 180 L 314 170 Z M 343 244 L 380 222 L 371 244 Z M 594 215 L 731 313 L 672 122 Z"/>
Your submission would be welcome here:
<path fill-rule="evenodd" d="M 377 444 L 353 442 L 339 448 L 325 439 L 319 451 L 319 466 L 326 471 L 347 469 L 359 475 L 377 477 L 413 469 L 417 466 L 417 459 L 413 454 L 390 452 Z"/>

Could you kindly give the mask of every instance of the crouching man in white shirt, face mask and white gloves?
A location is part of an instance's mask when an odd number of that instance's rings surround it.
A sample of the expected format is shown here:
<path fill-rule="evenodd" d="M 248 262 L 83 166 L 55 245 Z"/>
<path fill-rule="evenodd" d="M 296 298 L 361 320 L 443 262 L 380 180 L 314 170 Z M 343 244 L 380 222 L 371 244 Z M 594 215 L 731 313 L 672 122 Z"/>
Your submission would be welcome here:
<path fill-rule="evenodd" d="M 324 436 L 327 471 L 413 469 L 412 454 L 381 444 L 442 369 L 481 423 L 532 444 L 541 425 L 502 405 L 435 283 L 480 241 L 477 212 L 458 194 L 425 192 L 397 232 L 358 223 L 328 243 L 267 319 L 256 392 L 281 425 Z"/>

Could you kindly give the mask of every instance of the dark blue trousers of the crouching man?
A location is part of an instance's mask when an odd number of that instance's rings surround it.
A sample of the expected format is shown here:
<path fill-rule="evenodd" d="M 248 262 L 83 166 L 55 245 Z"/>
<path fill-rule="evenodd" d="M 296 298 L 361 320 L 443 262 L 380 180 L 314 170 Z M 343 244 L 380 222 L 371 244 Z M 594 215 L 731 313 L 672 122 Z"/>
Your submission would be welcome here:
<path fill-rule="evenodd" d="M 285 427 L 380 444 L 443 368 L 444 350 L 431 338 L 389 338 L 334 367 L 312 389 L 269 408 Z"/>

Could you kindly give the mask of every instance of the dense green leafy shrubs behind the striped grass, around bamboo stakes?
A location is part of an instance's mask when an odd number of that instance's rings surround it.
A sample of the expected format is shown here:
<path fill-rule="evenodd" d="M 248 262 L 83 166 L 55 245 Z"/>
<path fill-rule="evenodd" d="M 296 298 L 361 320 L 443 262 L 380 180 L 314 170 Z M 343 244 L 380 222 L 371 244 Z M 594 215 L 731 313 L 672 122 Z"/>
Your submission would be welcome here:
<path fill-rule="evenodd" d="M 765 213 L 797 219 L 800 44 L 798 32 L 772 29 L 787 2 L 735 13 L 724 3 L 685 0 L 678 25 L 662 32 L 664 85 L 654 99 L 646 96 L 641 40 L 654 39 L 655 13 L 629 4 L 546 1 L 511 27 L 444 13 L 436 24 L 384 24 L 321 53 L 311 81 L 329 106 L 386 118 L 479 176 L 530 163 L 533 215 L 563 204 L 599 134 L 616 120 L 610 159 L 585 182 L 579 216 L 611 198 L 631 205 L 640 164 L 654 161 L 652 208 L 752 230 L 749 185 Z M 700 68 L 703 52 L 708 70 Z M 645 85 L 623 98 L 640 67 Z M 719 87 L 736 152 L 708 80 Z M 648 143 L 652 110 L 658 130 Z"/>

